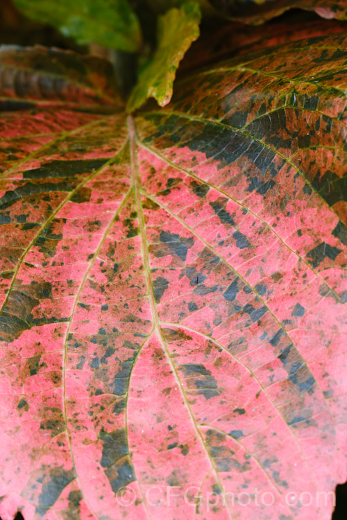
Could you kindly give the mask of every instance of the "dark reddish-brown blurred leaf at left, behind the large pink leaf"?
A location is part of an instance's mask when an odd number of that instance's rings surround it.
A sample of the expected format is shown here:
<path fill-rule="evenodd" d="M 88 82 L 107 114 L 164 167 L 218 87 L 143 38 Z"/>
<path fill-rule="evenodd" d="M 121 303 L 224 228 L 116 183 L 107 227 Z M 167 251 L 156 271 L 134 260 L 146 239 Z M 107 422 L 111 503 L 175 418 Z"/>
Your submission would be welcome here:
<path fill-rule="evenodd" d="M 42 46 L 0 46 L 0 107 L 78 107 L 123 104 L 106 60 Z"/>

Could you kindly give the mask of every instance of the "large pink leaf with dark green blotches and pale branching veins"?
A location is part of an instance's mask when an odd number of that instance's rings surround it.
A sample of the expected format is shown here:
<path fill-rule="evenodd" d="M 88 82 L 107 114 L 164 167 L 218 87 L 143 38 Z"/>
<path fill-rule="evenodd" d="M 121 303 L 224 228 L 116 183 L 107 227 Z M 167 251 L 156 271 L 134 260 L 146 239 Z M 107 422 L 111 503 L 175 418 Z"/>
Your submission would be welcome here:
<path fill-rule="evenodd" d="M 3 114 L 1 519 L 330 519 L 344 49 L 239 56 L 127 122 Z"/>

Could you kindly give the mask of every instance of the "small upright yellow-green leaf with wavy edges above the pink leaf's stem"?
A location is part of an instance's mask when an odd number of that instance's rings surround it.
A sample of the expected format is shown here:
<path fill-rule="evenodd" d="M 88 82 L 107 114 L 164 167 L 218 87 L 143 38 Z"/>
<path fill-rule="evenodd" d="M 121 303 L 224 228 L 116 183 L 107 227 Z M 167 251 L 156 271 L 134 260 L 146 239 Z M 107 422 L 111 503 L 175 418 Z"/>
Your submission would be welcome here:
<path fill-rule="evenodd" d="M 198 38 L 201 20 L 196 1 L 172 8 L 158 18 L 158 49 L 139 74 L 139 81 L 128 101 L 128 112 L 140 107 L 147 98 L 155 98 L 161 107 L 169 103 L 176 69 L 185 51 Z"/>

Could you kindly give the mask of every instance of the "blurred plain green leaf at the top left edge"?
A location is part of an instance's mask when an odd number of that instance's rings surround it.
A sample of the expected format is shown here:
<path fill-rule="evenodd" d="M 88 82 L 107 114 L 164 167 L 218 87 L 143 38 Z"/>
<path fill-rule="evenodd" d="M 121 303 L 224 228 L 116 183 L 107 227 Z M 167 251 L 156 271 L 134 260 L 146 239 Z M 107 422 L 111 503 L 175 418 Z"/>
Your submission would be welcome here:
<path fill-rule="evenodd" d="M 127 0 L 15 0 L 15 4 L 26 16 L 58 27 L 80 44 L 133 52 L 142 42 Z"/>

